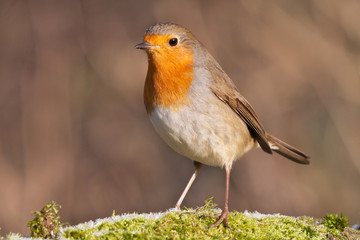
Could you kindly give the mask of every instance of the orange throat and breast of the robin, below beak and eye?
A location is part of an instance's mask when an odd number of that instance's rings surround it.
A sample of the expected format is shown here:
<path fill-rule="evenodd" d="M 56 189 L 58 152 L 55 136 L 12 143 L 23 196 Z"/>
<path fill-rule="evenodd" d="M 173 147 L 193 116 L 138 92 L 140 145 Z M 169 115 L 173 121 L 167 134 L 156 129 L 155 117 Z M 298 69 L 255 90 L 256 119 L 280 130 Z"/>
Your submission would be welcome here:
<path fill-rule="evenodd" d="M 149 67 L 144 87 L 148 113 L 154 107 L 171 107 L 174 111 L 188 103 L 193 80 L 193 54 L 189 48 L 161 48 L 148 53 Z"/>

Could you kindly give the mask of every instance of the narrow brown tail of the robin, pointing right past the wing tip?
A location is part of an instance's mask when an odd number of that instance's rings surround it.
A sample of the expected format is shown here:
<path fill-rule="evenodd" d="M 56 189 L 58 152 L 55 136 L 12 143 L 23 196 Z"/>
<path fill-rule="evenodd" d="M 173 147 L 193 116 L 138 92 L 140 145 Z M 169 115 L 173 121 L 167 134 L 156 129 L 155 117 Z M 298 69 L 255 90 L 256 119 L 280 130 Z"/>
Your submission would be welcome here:
<path fill-rule="evenodd" d="M 300 164 L 310 163 L 310 157 L 293 146 L 290 146 L 270 134 L 266 134 L 266 139 L 270 143 L 271 149 L 278 154 Z"/>

